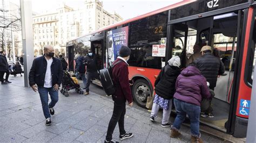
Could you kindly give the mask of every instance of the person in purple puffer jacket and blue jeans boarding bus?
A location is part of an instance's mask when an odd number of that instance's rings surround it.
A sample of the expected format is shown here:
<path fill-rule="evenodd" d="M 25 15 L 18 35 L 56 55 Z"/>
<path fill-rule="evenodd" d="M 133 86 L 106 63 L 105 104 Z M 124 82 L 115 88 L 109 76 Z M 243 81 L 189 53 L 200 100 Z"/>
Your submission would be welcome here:
<path fill-rule="evenodd" d="M 201 75 L 196 63 L 192 62 L 181 71 L 176 81 L 176 92 L 173 101 L 177 116 L 171 126 L 171 138 L 177 138 L 180 135 L 180 126 L 188 115 L 191 142 L 203 142 L 199 132 L 200 104 L 203 97 L 211 98 L 206 78 Z"/>

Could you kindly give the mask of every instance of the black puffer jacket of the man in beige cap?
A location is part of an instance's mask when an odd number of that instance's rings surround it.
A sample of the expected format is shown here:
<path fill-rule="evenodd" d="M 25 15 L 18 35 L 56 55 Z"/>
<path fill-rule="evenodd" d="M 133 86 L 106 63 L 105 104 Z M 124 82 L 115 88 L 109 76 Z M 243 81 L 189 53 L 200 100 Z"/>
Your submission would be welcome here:
<path fill-rule="evenodd" d="M 211 53 L 205 53 L 194 62 L 207 82 L 210 83 L 210 88 L 216 87 L 218 75 L 225 73 L 223 62 Z"/>

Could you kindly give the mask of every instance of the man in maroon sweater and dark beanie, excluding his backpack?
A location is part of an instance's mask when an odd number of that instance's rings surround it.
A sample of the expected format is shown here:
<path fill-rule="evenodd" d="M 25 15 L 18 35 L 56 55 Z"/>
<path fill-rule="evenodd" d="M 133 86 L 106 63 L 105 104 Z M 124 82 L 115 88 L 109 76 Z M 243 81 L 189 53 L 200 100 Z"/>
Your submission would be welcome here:
<path fill-rule="evenodd" d="M 130 58 L 131 49 L 127 46 L 122 46 L 119 50 L 119 56 L 113 64 L 117 63 L 112 68 L 113 84 L 116 87 L 116 94 L 112 95 L 114 101 L 113 114 L 107 128 L 105 142 L 117 142 L 112 140 L 114 128 L 119 126 L 120 140 L 133 137 L 132 133 L 126 133 L 124 130 L 125 103 L 128 101 L 129 106 L 132 106 L 132 94 L 129 83 L 129 70 L 127 61 Z"/>

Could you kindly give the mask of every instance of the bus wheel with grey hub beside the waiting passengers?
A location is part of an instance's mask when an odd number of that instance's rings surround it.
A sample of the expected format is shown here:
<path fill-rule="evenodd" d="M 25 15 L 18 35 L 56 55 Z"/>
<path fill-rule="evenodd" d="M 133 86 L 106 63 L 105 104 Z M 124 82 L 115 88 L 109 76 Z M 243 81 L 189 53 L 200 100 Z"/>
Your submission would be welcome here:
<path fill-rule="evenodd" d="M 132 86 L 134 101 L 141 107 L 146 108 L 147 97 L 151 96 L 149 83 L 144 79 L 136 80 Z"/>

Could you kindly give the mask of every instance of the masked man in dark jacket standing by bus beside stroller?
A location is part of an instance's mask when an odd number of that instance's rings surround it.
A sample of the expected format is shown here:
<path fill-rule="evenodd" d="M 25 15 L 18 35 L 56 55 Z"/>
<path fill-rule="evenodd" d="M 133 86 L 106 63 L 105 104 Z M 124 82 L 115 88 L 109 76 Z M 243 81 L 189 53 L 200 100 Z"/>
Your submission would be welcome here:
<path fill-rule="evenodd" d="M 98 78 L 98 70 L 97 70 L 97 60 L 96 55 L 92 53 L 91 49 L 89 49 L 87 55 L 84 58 L 84 62 L 86 65 L 86 85 L 85 85 L 85 94 L 89 95 L 89 87 L 92 78 Z"/>

